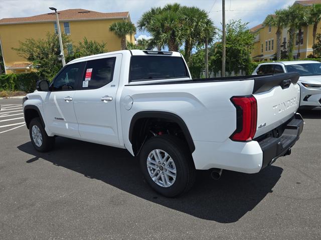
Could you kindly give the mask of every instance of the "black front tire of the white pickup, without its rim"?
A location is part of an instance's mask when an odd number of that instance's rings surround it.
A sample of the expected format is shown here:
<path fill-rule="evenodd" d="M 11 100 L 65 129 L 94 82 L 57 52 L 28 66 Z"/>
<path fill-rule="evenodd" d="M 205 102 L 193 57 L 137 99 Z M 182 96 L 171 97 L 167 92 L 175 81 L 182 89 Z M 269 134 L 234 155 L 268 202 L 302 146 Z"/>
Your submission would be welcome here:
<path fill-rule="evenodd" d="M 41 137 L 42 137 L 42 144 L 37 146 L 32 136 L 32 129 L 33 126 L 37 126 L 40 129 Z M 55 146 L 55 137 L 49 137 L 45 131 L 44 126 L 41 123 L 40 118 L 33 118 L 29 124 L 29 135 L 34 148 L 39 152 L 48 152 L 49 150 L 53 149 Z"/>

